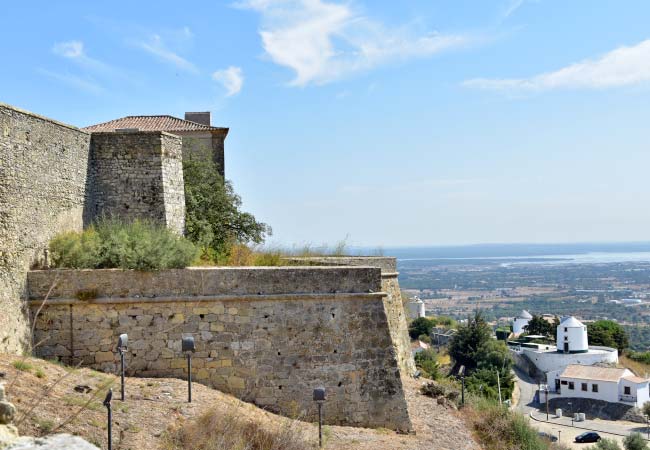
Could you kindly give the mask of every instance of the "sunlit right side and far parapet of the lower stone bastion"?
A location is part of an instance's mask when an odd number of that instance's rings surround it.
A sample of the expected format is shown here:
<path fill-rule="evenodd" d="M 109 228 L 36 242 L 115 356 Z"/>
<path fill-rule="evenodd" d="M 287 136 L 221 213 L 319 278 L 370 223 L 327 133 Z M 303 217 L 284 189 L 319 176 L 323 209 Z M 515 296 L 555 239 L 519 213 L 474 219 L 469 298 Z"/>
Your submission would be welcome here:
<path fill-rule="evenodd" d="M 397 276 L 397 260 L 386 256 L 318 256 L 290 258 L 295 262 L 323 266 L 369 266 L 381 269 L 381 290 L 386 293 L 384 309 L 388 317 L 388 328 L 397 354 L 399 367 L 404 375 L 412 375 L 415 361 L 411 353 L 411 339 L 408 334 L 406 312 Z"/>

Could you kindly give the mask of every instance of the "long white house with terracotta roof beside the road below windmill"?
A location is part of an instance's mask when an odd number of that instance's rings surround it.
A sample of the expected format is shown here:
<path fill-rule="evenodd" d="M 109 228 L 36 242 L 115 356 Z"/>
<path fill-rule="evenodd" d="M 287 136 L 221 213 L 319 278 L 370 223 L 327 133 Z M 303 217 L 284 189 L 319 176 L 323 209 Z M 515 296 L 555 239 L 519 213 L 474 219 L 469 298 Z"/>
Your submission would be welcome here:
<path fill-rule="evenodd" d="M 560 398 L 589 398 L 641 407 L 650 401 L 645 378 L 629 369 L 571 364 L 548 380 L 549 390 Z"/>

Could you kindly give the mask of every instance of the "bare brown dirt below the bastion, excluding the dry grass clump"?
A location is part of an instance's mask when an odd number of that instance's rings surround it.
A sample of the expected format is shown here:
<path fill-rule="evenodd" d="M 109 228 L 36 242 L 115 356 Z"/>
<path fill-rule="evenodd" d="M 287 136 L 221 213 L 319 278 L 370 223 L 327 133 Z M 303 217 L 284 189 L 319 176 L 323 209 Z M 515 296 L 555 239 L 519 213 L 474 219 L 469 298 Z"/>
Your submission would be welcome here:
<path fill-rule="evenodd" d="M 17 368 L 18 367 L 18 368 Z M 20 370 L 19 370 L 20 369 Z M 232 410 L 264 427 L 287 419 L 244 403 L 230 395 L 193 384 L 187 403 L 187 382 L 166 378 L 127 378 L 127 400 L 120 401 L 120 382 L 114 375 L 13 355 L 0 355 L 0 382 L 8 400 L 18 409 L 15 424 L 21 434 L 77 434 L 106 448 L 106 408 L 102 401 L 113 389 L 113 448 L 156 449 L 166 430 L 192 420 L 210 408 Z M 450 408 L 419 393 L 421 381 L 404 380 L 414 435 L 386 429 L 327 426 L 325 448 L 330 450 L 473 450 L 480 447 L 459 416 Z M 75 389 L 76 388 L 76 389 Z M 318 442 L 314 424 L 293 425 L 310 442 Z"/>

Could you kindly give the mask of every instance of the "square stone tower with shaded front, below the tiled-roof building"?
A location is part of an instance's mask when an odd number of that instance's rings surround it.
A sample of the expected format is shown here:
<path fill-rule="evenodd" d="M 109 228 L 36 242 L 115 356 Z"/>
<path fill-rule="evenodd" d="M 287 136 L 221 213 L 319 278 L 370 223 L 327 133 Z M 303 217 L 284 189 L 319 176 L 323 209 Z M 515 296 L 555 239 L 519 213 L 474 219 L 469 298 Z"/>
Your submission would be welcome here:
<path fill-rule="evenodd" d="M 183 233 L 181 138 L 160 131 L 93 133 L 91 217 L 156 220 Z"/>

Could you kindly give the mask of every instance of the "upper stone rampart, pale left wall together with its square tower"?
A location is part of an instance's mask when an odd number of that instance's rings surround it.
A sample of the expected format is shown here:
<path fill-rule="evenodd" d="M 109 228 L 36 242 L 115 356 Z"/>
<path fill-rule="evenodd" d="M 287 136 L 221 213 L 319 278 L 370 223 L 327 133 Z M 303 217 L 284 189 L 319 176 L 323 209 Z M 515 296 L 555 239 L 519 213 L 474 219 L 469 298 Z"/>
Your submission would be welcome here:
<path fill-rule="evenodd" d="M 157 220 L 182 233 L 182 140 L 93 133 L 0 103 L 0 351 L 20 352 L 20 297 L 50 239 L 98 214 Z"/>

